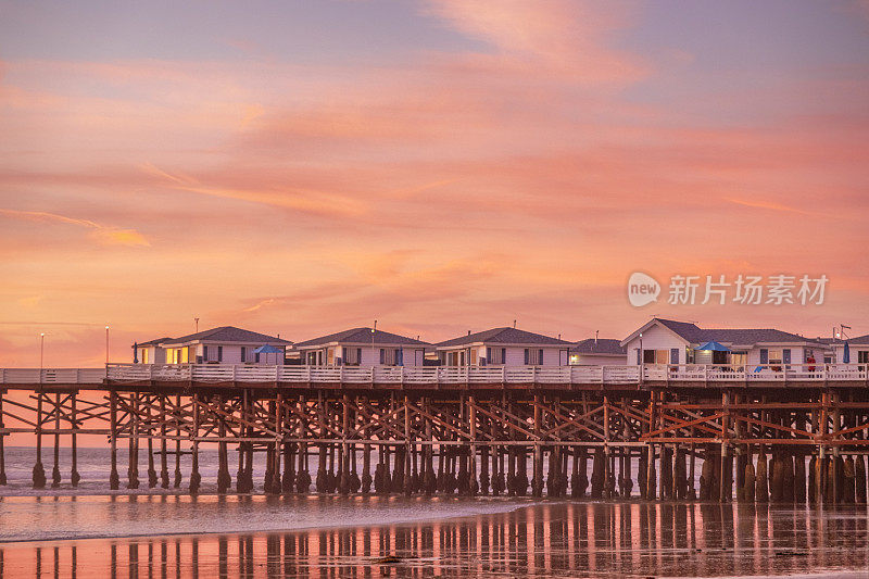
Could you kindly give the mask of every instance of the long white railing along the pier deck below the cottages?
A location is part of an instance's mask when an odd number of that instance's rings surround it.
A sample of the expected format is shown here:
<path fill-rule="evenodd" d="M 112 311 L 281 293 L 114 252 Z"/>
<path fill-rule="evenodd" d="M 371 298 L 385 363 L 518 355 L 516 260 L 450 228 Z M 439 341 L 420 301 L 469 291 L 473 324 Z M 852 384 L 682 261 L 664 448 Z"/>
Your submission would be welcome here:
<path fill-rule="evenodd" d="M 104 368 L 0 368 L 0 385 L 270 382 L 370 385 L 786 385 L 862 382 L 867 364 L 646 364 L 640 366 L 273 366 L 109 364 Z"/>

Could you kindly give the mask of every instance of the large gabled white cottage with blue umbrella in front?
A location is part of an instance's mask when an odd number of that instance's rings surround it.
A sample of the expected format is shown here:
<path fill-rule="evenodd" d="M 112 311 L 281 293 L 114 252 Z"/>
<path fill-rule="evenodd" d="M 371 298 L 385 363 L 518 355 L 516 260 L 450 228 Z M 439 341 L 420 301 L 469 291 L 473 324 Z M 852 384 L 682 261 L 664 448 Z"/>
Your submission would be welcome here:
<path fill-rule="evenodd" d="M 630 364 L 820 364 L 829 351 L 816 340 L 777 329 L 704 329 L 657 317 L 621 345 Z"/>

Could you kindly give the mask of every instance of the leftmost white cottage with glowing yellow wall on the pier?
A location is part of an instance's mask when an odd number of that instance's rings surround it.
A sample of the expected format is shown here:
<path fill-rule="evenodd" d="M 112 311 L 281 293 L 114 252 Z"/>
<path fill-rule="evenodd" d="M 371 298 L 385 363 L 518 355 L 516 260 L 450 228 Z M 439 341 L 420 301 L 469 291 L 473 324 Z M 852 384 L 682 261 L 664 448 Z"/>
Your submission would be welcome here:
<path fill-rule="evenodd" d="M 134 361 L 140 364 L 281 365 L 292 342 L 235 326 L 221 326 L 180 338 L 149 340 L 134 347 Z"/>

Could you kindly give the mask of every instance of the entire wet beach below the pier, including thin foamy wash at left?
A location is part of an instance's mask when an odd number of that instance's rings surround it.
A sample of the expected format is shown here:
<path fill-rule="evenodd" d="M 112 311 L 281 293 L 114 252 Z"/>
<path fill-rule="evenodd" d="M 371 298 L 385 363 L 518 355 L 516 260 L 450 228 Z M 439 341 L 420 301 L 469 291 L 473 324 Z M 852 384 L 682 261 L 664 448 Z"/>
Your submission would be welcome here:
<path fill-rule="evenodd" d="M 865 577 L 867 509 L 400 496 L 0 500 L 0 577 Z"/>

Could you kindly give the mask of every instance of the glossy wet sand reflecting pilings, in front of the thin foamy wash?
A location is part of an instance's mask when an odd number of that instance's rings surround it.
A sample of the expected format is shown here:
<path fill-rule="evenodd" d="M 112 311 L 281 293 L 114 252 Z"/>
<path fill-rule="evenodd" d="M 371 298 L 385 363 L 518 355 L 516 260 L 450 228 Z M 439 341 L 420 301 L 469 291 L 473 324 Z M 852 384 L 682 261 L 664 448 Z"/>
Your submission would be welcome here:
<path fill-rule="evenodd" d="M 869 569 L 866 507 L 545 503 L 383 527 L 0 545 L 0 579 L 747 576 L 847 569 Z"/>

